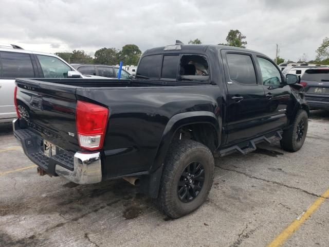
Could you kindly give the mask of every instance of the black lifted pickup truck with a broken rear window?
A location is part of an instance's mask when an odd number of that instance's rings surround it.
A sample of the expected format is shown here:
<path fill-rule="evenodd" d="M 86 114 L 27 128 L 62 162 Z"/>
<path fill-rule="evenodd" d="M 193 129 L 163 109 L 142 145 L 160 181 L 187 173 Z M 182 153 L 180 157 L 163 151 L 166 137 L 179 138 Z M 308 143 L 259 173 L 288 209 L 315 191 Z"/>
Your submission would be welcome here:
<path fill-rule="evenodd" d="M 265 55 L 179 43 L 145 51 L 132 79 L 16 79 L 15 104 L 14 135 L 40 174 L 124 178 L 172 218 L 206 200 L 214 153 L 277 140 L 297 151 L 309 113 L 297 76 Z"/>

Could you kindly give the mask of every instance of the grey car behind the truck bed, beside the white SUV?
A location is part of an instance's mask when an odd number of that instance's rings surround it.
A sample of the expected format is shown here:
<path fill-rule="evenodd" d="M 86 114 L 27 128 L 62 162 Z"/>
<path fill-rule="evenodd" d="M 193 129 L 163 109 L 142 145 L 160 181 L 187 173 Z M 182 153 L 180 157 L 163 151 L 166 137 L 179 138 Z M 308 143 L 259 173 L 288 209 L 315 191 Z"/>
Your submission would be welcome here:
<path fill-rule="evenodd" d="M 103 65 L 103 64 L 76 64 L 71 66 L 76 68 L 83 75 L 102 76 L 107 78 L 118 78 L 119 66 Z M 121 71 L 122 79 L 129 79 L 131 74 L 125 69 Z"/>

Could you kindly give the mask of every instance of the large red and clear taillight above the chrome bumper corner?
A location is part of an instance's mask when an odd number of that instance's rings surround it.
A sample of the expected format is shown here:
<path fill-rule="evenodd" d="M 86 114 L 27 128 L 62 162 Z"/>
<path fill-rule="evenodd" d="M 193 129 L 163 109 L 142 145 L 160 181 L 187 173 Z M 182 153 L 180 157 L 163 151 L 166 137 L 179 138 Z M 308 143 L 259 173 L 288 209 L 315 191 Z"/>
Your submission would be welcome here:
<path fill-rule="evenodd" d="M 95 150 L 103 147 L 108 115 L 107 108 L 78 100 L 76 124 L 81 148 Z"/>

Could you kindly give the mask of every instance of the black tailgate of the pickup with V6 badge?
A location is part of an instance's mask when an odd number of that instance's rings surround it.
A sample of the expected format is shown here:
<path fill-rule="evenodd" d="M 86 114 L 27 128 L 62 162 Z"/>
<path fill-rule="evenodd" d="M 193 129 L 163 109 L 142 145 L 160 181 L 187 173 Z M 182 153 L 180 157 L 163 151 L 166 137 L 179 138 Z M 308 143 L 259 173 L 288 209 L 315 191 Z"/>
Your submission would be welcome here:
<path fill-rule="evenodd" d="M 16 79 L 17 105 L 28 128 L 70 152 L 80 150 L 76 135 L 76 86 Z"/>

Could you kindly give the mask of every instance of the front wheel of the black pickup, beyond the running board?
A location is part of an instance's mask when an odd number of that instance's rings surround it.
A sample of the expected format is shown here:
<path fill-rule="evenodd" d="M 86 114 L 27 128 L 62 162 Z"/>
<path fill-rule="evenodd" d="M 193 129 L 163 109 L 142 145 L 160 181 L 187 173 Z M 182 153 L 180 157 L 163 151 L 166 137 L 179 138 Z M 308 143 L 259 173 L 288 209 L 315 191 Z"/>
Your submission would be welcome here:
<path fill-rule="evenodd" d="M 290 152 L 296 152 L 303 146 L 308 128 L 308 116 L 304 110 L 299 110 L 293 125 L 282 134 L 281 147 Z"/>

